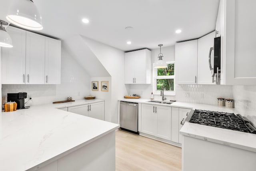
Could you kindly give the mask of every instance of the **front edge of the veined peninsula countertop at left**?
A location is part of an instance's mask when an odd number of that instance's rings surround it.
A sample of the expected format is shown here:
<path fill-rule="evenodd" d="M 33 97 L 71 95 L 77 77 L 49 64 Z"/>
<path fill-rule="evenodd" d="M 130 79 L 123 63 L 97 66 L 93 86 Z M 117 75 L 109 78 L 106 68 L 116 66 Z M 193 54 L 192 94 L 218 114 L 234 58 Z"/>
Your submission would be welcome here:
<path fill-rule="evenodd" d="M 112 132 L 112 131 L 116 131 L 118 128 L 120 127 L 120 125 L 116 126 L 116 127 L 113 127 L 112 129 L 92 138 L 92 139 L 89 139 L 88 141 L 85 141 L 84 143 L 80 144 L 80 145 L 77 145 L 76 147 L 73 147 L 72 149 L 69 149 L 67 151 L 64 151 L 63 153 L 59 154 L 59 155 L 56 155 L 55 157 L 52 157 L 38 165 L 35 165 L 34 167 L 30 168 L 30 169 L 27 169 L 26 171 L 36 171 L 50 163 L 52 163 L 53 161 L 56 161 L 66 155 L 68 155 L 69 153 L 72 153 L 73 151 L 76 151 L 78 149 L 80 149 L 81 147 L 84 147 L 85 145 L 88 145 L 89 143 L 92 143 L 93 141 L 95 141 L 96 139 L 99 139 L 101 137 L 103 137 L 104 135 L 107 135 L 108 133 Z"/>

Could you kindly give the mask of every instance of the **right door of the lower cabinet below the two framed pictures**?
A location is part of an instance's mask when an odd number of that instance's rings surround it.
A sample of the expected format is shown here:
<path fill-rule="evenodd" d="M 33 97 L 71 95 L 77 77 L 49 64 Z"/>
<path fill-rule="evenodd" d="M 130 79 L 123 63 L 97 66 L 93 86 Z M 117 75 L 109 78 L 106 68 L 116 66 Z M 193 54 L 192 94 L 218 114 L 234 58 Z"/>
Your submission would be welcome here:
<path fill-rule="evenodd" d="M 105 120 L 105 105 L 104 101 L 98 103 L 90 103 L 89 105 L 89 117 L 93 117 L 95 119 Z"/>

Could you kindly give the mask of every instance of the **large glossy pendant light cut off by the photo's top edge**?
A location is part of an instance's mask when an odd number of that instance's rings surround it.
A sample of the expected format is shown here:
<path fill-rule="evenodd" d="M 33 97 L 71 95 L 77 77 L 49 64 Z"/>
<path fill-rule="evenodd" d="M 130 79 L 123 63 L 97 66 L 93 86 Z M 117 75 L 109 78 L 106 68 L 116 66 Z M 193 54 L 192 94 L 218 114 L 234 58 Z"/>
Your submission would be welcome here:
<path fill-rule="evenodd" d="M 6 19 L 28 30 L 42 30 L 42 17 L 33 0 L 14 0 Z"/>

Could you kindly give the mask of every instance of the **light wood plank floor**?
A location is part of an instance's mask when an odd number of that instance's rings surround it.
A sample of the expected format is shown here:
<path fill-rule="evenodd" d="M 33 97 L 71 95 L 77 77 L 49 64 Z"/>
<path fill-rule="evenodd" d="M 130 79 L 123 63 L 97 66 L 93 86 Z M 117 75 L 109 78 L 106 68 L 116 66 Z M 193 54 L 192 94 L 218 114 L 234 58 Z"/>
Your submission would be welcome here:
<path fill-rule="evenodd" d="M 181 148 L 118 130 L 116 171 L 181 171 Z"/>

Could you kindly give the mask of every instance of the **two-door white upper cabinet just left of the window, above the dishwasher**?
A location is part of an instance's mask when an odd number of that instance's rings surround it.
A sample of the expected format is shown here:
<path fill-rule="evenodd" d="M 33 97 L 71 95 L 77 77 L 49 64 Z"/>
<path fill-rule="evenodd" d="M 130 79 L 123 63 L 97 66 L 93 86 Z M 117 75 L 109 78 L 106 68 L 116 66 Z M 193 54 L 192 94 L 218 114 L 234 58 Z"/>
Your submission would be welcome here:
<path fill-rule="evenodd" d="M 136 50 L 124 54 L 124 83 L 151 84 L 150 50 Z"/>

